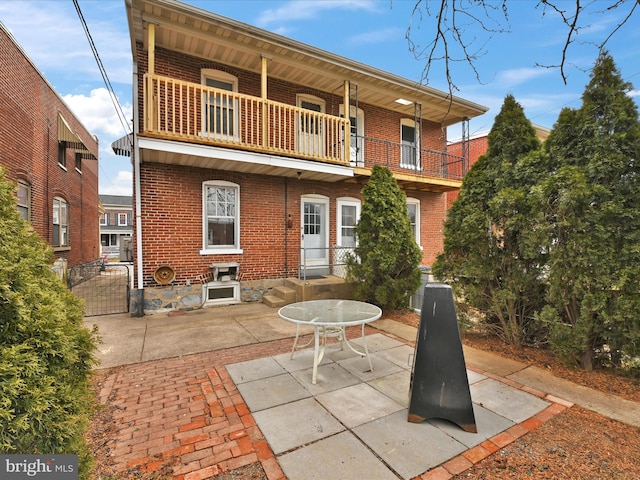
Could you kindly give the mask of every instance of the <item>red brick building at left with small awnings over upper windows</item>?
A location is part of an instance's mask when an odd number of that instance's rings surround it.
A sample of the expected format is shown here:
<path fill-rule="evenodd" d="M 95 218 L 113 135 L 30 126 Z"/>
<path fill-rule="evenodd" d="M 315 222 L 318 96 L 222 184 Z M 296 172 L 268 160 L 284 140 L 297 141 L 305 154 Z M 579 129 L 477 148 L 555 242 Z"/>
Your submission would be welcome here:
<path fill-rule="evenodd" d="M 0 64 L 0 165 L 18 209 L 67 266 L 96 260 L 98 139 L 2 23 Z"/>

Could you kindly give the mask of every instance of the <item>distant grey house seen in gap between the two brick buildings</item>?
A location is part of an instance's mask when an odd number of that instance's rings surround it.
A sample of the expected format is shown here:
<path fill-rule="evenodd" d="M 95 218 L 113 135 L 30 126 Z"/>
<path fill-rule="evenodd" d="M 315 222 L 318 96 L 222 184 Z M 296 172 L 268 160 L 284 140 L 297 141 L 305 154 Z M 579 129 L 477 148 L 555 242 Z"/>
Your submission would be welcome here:
<path fill-rule="evenodd" d="M 105 261 L 133 261 L 133 204 L 131 195 L 100 195 L 101 255 Z"/>

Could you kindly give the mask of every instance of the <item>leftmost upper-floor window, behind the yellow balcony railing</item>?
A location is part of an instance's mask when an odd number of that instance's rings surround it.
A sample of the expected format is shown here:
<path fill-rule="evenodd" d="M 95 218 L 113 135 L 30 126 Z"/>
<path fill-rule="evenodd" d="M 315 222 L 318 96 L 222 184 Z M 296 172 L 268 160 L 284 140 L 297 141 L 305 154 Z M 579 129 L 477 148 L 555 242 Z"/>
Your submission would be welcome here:
<path fill-rule="evenodd" d="M 237 140 L 239 105 L 233 92 L 238 91 L 238 79 L 229 73 L 204 69 L 202 84 L 216 90 L 207 89 L 202 96 L 201 135 Z"/>

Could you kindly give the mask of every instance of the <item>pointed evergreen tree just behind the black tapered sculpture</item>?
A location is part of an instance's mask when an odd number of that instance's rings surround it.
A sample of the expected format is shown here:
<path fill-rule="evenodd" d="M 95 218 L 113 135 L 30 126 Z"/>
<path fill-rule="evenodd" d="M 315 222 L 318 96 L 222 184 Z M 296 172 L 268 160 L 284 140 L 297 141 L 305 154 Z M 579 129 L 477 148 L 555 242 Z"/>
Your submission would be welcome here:
<path fill-rule="evenodd" d="M 467 306 L 511 344 L 534 335 L 530 324 L 543 298 L 539 232 L 531 228 L 529 190 L 544 157 L 522 107 L 505 97 L 489 148 L 464 178 L 445 222 L 444 252 L 433 266 Z M 532 153 L 534 152 L 534 153 Z"/>

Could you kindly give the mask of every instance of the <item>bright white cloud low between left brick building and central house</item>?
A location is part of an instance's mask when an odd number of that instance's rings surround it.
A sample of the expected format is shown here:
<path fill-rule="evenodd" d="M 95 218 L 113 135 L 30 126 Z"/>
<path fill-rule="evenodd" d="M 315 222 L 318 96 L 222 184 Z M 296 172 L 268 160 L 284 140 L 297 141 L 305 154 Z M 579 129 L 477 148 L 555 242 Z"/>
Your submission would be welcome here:
<path fill-rule="evenodd" d="M 97 134 L 98 137 L 104 134 L 107 138 L 115 139 L 128 133 L 119 120 L 111 95 L 106 88 L 95 88 L 91 90 L 88 97 L 70 94 L 62 98 L 87 130 Z M 133 115 L 131 103 L 125 103 L 122 109 L 126 121 L 130 122 Z"/>

